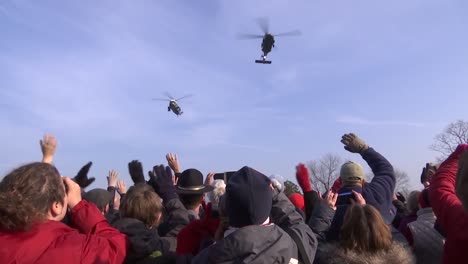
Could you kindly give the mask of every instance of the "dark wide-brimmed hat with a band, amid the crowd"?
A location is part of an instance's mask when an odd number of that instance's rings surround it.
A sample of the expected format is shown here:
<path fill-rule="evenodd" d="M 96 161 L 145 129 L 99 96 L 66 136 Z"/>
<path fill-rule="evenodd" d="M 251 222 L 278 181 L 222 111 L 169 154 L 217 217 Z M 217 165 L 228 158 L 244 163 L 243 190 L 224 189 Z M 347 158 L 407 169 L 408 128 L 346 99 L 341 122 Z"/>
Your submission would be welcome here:
<path fill-rule="evenodd" d="M 179 175 L 176 192 L 179 194 L 204 194 L 214 187 L 203 183 L 203 174 L 197 169 L 184 170 Z"/>

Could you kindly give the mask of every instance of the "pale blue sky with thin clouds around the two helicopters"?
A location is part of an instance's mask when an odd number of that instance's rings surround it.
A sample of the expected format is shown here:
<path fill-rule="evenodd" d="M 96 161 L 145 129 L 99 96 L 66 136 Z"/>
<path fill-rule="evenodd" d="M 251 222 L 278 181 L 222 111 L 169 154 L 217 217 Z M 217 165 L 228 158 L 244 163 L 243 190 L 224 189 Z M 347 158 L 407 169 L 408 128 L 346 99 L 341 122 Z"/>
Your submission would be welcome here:
<path fill-rule="evenodd" d="M 437 156 L 434 136 L 466 119 L 468 2 L 33 1 L 0 2 L 0 171 L 40 159 L 73 176 L 93 161 L 145 170 L 178 153 L 204 173 L 250 165 L 293 178 L 298 162 L 343 150 L 355 132 L 412 177 Z M 277 38 L 271 65 L 253 63 L 254 20 Z M 168 91 L 184 115 L 151 101 Z"/>

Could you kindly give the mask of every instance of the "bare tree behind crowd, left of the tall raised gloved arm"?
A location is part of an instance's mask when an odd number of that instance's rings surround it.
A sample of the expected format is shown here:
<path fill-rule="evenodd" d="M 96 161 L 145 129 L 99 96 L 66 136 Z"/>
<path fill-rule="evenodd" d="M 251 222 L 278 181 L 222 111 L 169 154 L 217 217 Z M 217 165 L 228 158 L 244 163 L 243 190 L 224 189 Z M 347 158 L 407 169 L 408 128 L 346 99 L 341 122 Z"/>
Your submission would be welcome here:
<path fill-rule="evenodd" d="M 335 180 L 340 177 L 341 163 L 340 156 L 330 153 L 319 160 L 310 161 L 308 167 L 314 189 L 322 193 L 330 190 Z"/>

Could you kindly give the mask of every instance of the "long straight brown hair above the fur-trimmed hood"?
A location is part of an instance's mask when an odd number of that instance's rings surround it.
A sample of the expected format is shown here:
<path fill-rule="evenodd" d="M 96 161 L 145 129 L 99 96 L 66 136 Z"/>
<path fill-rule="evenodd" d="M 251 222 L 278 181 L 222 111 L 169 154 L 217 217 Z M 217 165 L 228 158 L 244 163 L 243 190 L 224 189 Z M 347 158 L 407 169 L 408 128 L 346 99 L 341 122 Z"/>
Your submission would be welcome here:
<path fill-rule="evenodd" d="M 382 215 L 371 205 L 350 205 L 340 233 L 340 246 L 345 251 L 376 253 L 388 250 L 392 233 Z"/>

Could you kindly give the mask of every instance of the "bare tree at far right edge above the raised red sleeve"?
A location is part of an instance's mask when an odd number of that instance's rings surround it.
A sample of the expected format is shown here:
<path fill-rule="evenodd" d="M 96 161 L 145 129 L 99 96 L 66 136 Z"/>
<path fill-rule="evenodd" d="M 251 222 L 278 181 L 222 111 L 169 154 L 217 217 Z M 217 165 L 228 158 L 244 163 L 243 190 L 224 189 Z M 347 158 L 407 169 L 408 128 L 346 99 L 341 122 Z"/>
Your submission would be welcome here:
<path fill-rule="evenodd" d="M 455 151 L 459 144 L 468 143 L 468 122 L 458 120 L 450 123 L 434 140 L 430 149 L 441 153 L 439 161 L 443 161 Z"/>

